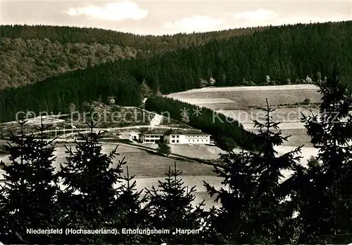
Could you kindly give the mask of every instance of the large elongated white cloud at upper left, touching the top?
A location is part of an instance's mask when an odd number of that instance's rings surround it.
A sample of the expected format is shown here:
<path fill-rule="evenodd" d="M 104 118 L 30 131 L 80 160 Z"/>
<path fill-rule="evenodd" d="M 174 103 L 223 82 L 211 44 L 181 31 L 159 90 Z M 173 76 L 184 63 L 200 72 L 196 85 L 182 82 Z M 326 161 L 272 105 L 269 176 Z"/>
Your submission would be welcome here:
<path fill-rule="evenodd" d="M 118 3 L 108 3 L 103 7 L 87 6 L 84 8 L 70 8 L 66 11 L 68 15 L 77 16 L 85 15 L 92 19 L 98 20 L 141 20 L 148 15 L 148 11 L 130 1 L 121 1 Z"/>

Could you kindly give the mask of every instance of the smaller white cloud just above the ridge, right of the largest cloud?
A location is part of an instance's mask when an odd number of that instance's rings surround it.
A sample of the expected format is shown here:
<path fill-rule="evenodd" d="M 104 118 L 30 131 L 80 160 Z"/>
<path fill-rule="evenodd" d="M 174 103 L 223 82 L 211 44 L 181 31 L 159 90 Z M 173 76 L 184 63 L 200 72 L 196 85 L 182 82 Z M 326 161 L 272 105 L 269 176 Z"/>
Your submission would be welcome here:
<path fill-rule="evenodd" d="M 224 20 L 220 18 L 211 18 L 209 16 L 194 15 L 193 17 L 183 18 L 175 22 L 166 22 L 165 29 L 170 29 L 172 32 L 208 32 L 216 29 Z"/>

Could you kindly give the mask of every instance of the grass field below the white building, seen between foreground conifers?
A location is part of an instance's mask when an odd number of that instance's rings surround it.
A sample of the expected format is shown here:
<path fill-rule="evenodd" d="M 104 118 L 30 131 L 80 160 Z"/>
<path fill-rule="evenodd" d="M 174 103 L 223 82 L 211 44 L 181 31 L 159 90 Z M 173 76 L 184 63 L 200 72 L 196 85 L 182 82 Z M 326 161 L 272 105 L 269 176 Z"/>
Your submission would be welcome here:
<path fill-rule="evenodd" d="M 65 144 L 68 147 L 72 147 L 75 150 L 75 145 L 72 143 Z M 56 168 L 60 167 L 60 163 L 67 162 L 65 157 L 65 147 L 62 143 L 57 144 L 56 149 Z M 103 153 L 111 152 L 115 149 L 116 145 L 103 145 Z M 149 154 L 144 150 L 139 150 L 135 147 L 129 147 L 125 145 L 118 146 L 118 153 L 120 156 L 114 159 L 114 164 L 118 163 L 118 160 L 122 160 L 125 157 L 127 161 L 127 166 L 129 168 L 130 175 L 136 176 L 137 189 L 143 190 L 144 188 L 151 188 L 152 186 L 158 187 L 158 180 L 164 180 L 166 178 L 165 173 L 168 171 L 169 166 L 173 169 L 175 160 L 168 157 L 160 157 L 154 154 Z M 8 157 L 2 157 L 6 162 Z M 191 187 L 196 185 L 196 192 L 194 193 L 196 199 L 194 204 L 199 204 L 203 199 L 206 199 L 205 208 L 210 208 L 215 204 L 206 193 L 205 187 L 203 186 L 203 180 L 214 185 L 215 187 L 220 187 L 220 178 L 215 176 L 213 173 L 213 167 L 205 164 L 196 164 L 189 161 L 176 161 L 177 169 L 182 171 L 182 180 L 185 185 Z M 4 171 L 0 169 L 0 180 L 4 179 L 2 176 Z"/>

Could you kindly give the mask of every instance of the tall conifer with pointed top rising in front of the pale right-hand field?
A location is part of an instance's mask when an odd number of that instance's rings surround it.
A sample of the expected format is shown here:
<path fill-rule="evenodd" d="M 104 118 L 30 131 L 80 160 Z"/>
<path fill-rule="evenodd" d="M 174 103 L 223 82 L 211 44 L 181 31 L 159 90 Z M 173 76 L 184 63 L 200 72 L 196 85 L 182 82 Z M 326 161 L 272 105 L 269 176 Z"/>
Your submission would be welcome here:
<path fill-rule="evenodd" d="M 266 113 L 265 121 L 254 120 L 254 127 L 259 128 L 258 141 L 260 150 L 253 154 L 251 165 L 256 169 L 256 191 L 253 193 L 253 200 L 256 201 L 256 213 L 253 213 L 253 220 L 256 220 L 256 230 L 253 235 L 260 237 L 261 242 L 287 243 L 289 237 L 286 224 L 294 215 L 289 205 L 287 190 L 282 184 L 287 176 L 283 171 L 293 171 L 299 165 L 301 147 L 295 150 L 277 155 L 275 147 L 288 141 L 290 136 L 282 136 L 279 130 L 281 122 L 272 121 L 271 113 L 275 112 L 267 102 L 263 108 Z M 260 225 L 258 225 L 260 224 Z"/>

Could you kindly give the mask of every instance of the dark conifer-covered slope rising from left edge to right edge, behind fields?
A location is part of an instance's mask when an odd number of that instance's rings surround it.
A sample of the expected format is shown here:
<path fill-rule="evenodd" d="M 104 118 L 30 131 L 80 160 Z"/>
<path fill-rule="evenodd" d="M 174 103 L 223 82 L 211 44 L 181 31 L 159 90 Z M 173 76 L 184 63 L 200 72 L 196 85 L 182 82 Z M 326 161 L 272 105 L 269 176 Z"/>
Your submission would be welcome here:
<path fill-rule="evenodd" d="M 117 102 L 124 105 L 127 100 L 123 97 L 133 98 L 130 102 L 135 103 L 141 96 L 137 82 L 141 84 L 144 79 L 154 91 L 172 93 L 203 86 L 201 79 L 210 80 L 210 77 L 215 79 L 215 86 L 262 85 L 268 82 L 268 76 L 276 84 L 286 84 L 288 79 L 299 83 L 307 76 L 317 80 L 320 73 L 322 77 L 331 74 L 330 64 L 334 62 L 339 63 L 344 74 L 352 74 L 351 37 L 352 22 L 270 27 L 264 32 L 210 41 L 148 59 L 99 65 L 34 86 L 0 91 L 1 121 L 13 120 L 13 112 L 19 110 L 38 111 L 41 107 L 53 110 L 50 105 L 63 110 L 70 102 L 80 105 L 87 99 L 97 100 L 99 95 L 115 95 Z M 121 74 L 127 75 L 121 77 Z M 118 85 L 120 82 L 123 86 Z M 106 89 L 106 84 L 110 84 L 108 88 L 119 87 L 119 94 Z M 55 92 L 51 91 L 54 87 Z M 94 92 L 89 97 L 80 91 Z"/>

